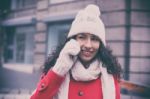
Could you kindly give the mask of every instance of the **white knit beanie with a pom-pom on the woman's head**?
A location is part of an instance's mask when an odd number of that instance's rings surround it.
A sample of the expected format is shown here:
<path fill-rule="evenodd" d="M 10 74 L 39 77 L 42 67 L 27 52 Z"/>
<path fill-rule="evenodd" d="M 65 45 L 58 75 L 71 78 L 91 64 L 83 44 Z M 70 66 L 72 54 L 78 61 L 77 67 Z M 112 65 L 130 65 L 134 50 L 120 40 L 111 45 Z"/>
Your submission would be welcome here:
<path fill-rule="evenodd" d="M 106 45 L 105 26 L 100 19 L 100 10 L 97 5 L 90 4 L 85 9 L 80 10 L 72 22 L 68 38 L 79 33 L 90 33 L 98 36 Z"/>

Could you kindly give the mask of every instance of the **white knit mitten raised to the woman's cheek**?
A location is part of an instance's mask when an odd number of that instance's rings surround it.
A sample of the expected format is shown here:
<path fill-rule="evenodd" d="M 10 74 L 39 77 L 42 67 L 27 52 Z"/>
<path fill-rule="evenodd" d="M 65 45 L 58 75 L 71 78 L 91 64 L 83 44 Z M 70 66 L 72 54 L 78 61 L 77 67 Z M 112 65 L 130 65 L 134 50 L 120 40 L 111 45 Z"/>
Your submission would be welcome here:
<path fill-rule="evenodd" d="M 79 52 L 80 44 L 76 40 L 71 39 L 61 50 L 52 70 L 57 74 L 64 76 L 71 69 Z"/>

